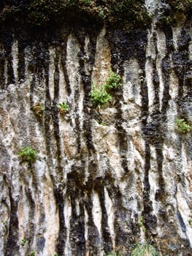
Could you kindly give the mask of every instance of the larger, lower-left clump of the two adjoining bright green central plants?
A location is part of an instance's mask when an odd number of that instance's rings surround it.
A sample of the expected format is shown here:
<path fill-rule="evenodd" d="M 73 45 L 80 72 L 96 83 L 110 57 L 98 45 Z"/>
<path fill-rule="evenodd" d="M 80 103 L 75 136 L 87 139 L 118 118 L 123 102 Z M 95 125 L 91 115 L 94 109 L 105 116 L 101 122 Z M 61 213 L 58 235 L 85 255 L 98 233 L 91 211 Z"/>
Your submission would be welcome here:
<path fill-rule="evenodd" d="M 109 102 L 112 97 L 107 93 L 104 85 L 101 85 L 99 88 L 96 88 L 95 85 L 92 86 L 92 91 L 90 93 L 93 104 L 101 108 L 101 105 Z"/>

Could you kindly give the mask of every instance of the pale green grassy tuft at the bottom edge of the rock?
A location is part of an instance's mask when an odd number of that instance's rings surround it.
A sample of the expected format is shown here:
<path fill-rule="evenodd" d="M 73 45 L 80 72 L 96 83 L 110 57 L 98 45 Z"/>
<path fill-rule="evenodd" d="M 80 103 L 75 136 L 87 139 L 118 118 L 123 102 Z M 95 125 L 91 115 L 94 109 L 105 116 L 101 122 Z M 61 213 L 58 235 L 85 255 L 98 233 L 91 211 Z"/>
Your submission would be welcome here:
<path fill-rule="evenodd" d="M 131 252 L 131 256 L 158 256 L 156 249 L 150 244 L 137 244 Z"/>

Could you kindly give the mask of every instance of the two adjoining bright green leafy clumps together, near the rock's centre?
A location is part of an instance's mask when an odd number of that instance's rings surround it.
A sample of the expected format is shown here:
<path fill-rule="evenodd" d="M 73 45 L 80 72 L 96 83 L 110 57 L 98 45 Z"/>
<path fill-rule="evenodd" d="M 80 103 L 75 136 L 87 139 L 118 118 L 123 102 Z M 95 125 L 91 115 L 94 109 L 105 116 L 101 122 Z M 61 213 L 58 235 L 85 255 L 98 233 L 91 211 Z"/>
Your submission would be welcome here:
<path fill-rule="evenodd" d="M 112 89 L 118 89 L 118 87 L 122 86 L 120 80 L 120 75 L 110 71 L 110 75 L 109 78 L 107 78 L 106 83 L 99 86 L 95 86 L 93 84 L 90 93 L 93 104 L 101 108 L 101 105 L 110 102 L 110 100 L 112 99 L 110 91 Z"/>

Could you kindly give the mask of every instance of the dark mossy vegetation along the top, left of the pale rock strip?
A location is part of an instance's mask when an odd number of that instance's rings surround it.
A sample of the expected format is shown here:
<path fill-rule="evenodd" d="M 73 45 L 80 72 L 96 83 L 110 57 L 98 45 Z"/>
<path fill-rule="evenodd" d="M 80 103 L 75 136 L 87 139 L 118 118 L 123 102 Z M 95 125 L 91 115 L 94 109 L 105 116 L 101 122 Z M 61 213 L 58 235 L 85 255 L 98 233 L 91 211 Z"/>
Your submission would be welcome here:
<path fill-rule="evenodd" d="M 43 27 L 62 20 L 83 20 L 106 24 L 120 24 L 122 28 L 146 26 L 150 17 L 145 0 L 28 0 L 20 3 L 4 0 L 0 5 L 0 21 L 26 22 Z"/>

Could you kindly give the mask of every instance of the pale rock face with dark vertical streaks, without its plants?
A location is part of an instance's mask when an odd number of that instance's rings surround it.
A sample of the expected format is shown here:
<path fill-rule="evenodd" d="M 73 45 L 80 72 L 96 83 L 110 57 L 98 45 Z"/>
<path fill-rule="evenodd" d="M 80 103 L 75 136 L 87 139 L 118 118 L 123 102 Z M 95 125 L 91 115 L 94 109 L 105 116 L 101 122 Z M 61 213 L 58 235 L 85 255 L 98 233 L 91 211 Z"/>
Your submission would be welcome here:
<path fill-rule="evenodd" d="M 0 255 L 192 255 L 192 139 L 175 125 L 192 124 L 190 21 L 0 41 Z M 123 86 L 96 108 L 109 69 Z"/>

